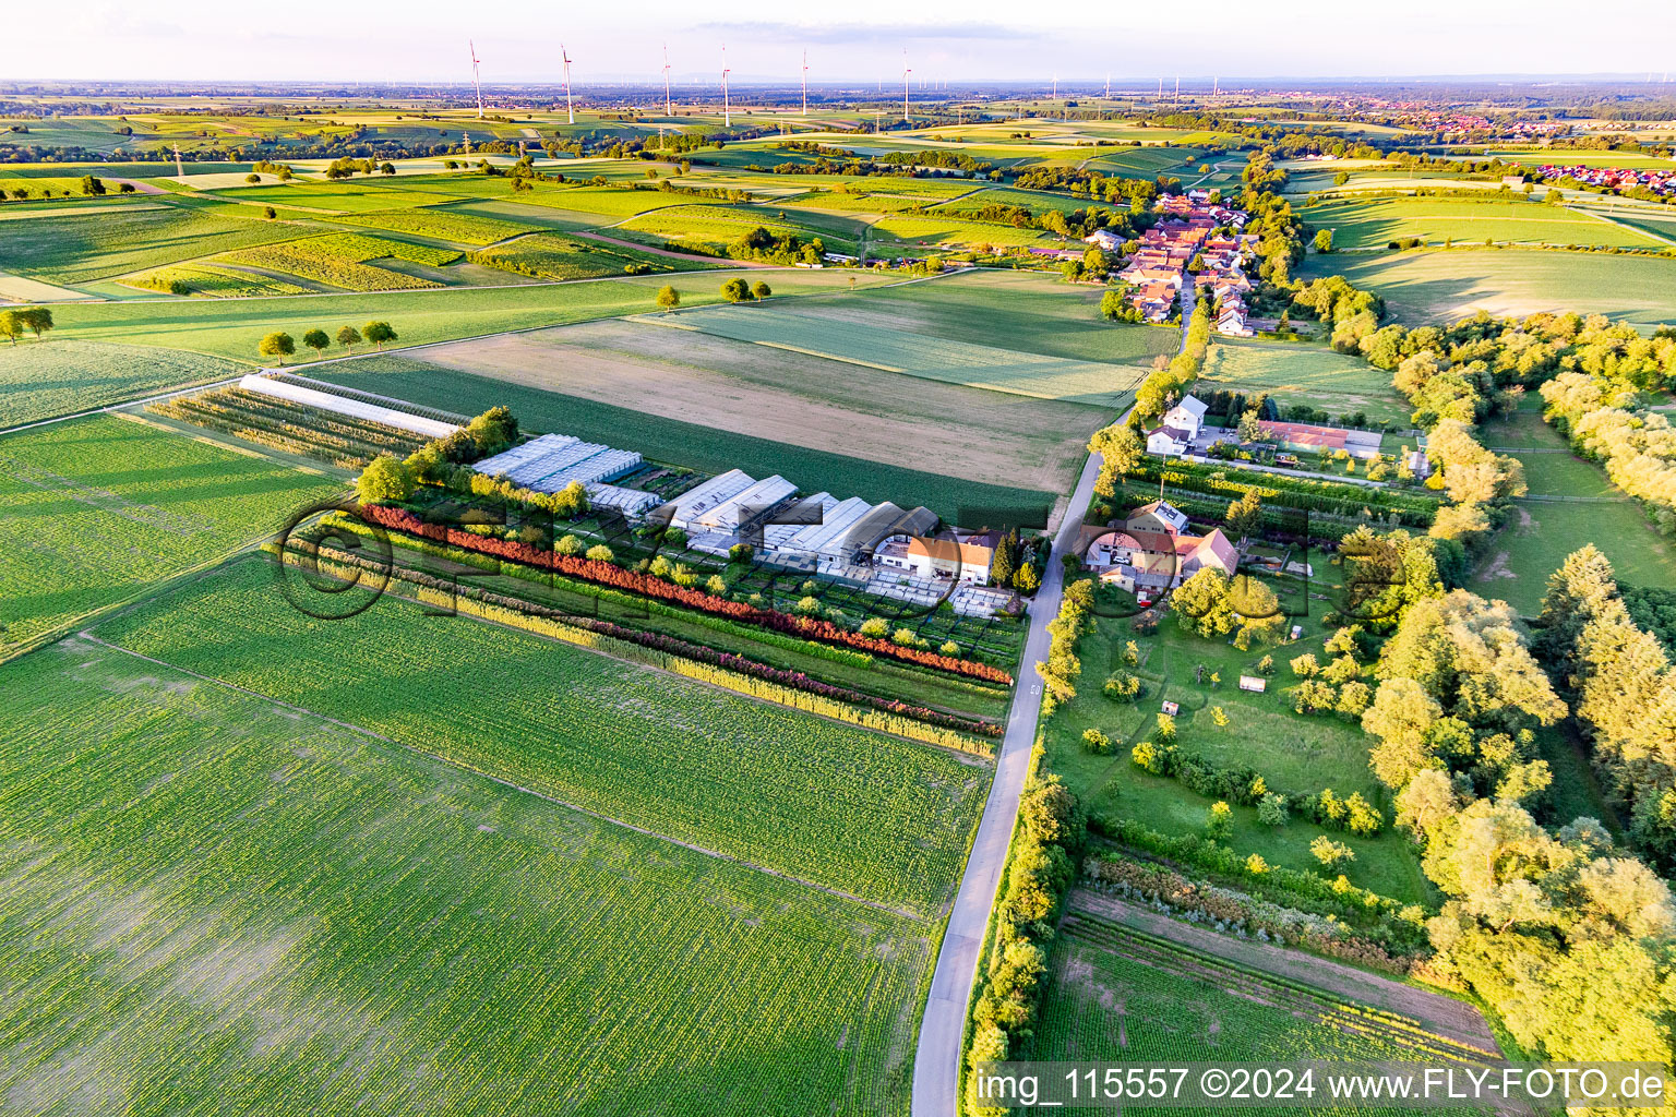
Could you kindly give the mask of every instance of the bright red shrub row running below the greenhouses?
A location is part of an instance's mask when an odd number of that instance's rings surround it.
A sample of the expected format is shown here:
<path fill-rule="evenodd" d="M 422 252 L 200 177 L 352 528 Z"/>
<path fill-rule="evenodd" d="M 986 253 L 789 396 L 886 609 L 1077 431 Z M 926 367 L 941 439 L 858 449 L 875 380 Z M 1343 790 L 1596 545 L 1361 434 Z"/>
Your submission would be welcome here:
<path fill-rule="evenodd" d="M 652 574 L 642 574 L 640 571 L 623 569 L 613 563 L 582 558 L 575 554 L 558 554 L 556 551 L 533 548 L 526 543 L 518 543 L 513 539 L 496 539 L 476 536 L 469 531 L 461 531 L 458 528 L 449 528 L 446 524 L 427 524 L 412 512 L 399 507 L 385 507 L 380 504 L 365 504 L 360 509 L 362 516 L 384 526 L 394 528 L 396 531 L 406 531 L 409 534 L 422 536 L 426 539 L 437 539 L 449 543 L 468 551 L 479 551 L 484 554 L 493 554 L 496 558 L 504 558 L 513 563 L 525 563 L 528 566 L 540 566 L 543 569 L 553 569 L 572 578 L 580 578 L 583 581 L 593 581 L 605 586 L 615 586 L 618 589 L 628 589 L 637 595 L 645 595 L 649 598 L 662 598 L 665 601 L 674 601 L 684 605 L 691 610 L 699 610 L 702 613 L 716 613 L 721 616 L 732 618 L 736 621 L 744 621 L 749 625 L 759 625 L 774 631 L 789 633 L 793 636 L 804 636 L 808 640 L 821 640 L 826 643 L 845 645 L 850 648 L 861 648 L 873 655 L 887 655 L 898 660 L 907 660 L 908 663 L 920 663 L 923 667 L 934 667 L 942 672 L 950 672 L 955 675 L 970 675 L 974 678 L 982 678 L 996 683 L 1012 683 L 1012 675 L 1001 670 L 999 667 L 991 667 L 987 663 L 975 663 L 972 660 L 957 660 L 949 655 L 940 655 L 937 651 L 925 651 L 920 648 L 907 648 L 890 640 L 875 640 L 872 636 L 863 636 L 861 633 L 850 631 L 833 625 L 831 621 L 818 620 L 813 616 L 793 616 L 789 613 L 781 613 L 778 610 L 761 610 L 744 601 L 729 601 L 727 598 L 719 598 L 716 595 L 706 593 L 702 589 L 691 589 L 685 586 L 674 586 Z"/>

